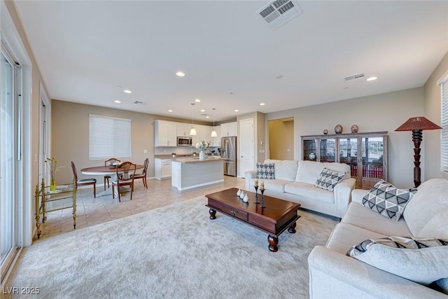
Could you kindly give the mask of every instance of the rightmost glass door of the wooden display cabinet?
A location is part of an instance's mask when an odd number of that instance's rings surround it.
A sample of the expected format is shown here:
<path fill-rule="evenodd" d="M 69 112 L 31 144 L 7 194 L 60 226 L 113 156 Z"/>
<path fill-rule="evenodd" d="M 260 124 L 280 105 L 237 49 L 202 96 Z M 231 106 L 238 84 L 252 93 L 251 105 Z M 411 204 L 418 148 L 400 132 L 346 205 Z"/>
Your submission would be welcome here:
<path fill-rule="evenodd" d="M 365 137 L 362 139 L 363 178 L 383 179 L 383 140 L 383 137 Z"/>

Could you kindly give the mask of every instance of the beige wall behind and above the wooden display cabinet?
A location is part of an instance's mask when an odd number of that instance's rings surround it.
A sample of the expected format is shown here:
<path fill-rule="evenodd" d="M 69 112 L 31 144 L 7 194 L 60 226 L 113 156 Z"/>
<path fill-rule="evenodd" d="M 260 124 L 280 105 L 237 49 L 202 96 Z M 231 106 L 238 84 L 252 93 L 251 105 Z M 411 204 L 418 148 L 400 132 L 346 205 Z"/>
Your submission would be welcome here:
<path fill-rule="evenodd" d="M 414 145 L 411 132 L 394 132 L 413 116 L 423 115 L 423 88 L 412 88 L 381 95 L 346 99 L 316 106 L 288 111 L 267 113 L 266 119 L 294 118 L 294 160 L 301 158 L 301 135 L 330 133 L 338 123 L 344 133 L 353 124 L 358 132 L 388 131 L 388 180 L 399 187 L 412 187 L 414 168 Z M 425 132 L 426 134 L 426 132 Z M 422 169 L 425 167 L 422 157 Z"/>

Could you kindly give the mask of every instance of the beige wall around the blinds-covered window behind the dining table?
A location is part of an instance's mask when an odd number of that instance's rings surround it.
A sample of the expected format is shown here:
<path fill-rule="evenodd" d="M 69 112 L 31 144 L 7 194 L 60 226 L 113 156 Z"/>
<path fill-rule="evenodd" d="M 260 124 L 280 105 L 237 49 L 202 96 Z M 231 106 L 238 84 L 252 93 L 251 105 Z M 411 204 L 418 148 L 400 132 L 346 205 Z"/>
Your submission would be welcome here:
<path fill-rule="evenodd" d="M 52 100 L 52 157 L 57 159 L 58 166 L 64 166 L 56 174 L 57 183 L 73 179 L 72 160 L 78 169 L 79 179 L 95 177 L 98 183 L 103 183 L 102 176 L 85 176 L 80 172 L 85 167 L 104 165 L 104 160 L 89 160 L 89 114 L 132 119 L 129 160 L 143 164 L 146 158 L 150 158 L 148 176 L 154 176 L 153 122 L 158 118 L 146 113 Z M 144 149 L 148 153 L 144 153 Z"/>

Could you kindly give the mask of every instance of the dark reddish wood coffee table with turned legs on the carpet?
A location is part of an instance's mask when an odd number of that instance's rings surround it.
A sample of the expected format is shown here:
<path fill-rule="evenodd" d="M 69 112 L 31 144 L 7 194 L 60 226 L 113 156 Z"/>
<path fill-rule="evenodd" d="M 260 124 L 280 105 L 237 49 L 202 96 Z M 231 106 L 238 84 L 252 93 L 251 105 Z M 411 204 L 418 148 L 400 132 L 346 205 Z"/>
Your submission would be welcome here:
<path fill-rule="evenodd" d="M 265 195 L 265 208 L 262 209 L 261 204 L 255 204 L 255 193 L 244 190 L 244 193 L 249 197 L 246 203 L 237 196 L 237 191 L 237 188 L 230 188 L 205 195 L 208 199 L 206 207 L 210 208 L 210 219 L 216 219 L 216 211 L 220 211 L 227 216 L 258 228 L 258 230 L 268 234 L 269 250 L 277 251 L 279 249 L 277 247 L 279 235 L 286 229 L 292 234 L 295 233 L 295 221 L 300 218 L 297 215 L 300 204 Z M 261 195 L 258 194 L 258 202 L 260 200 Z"/>

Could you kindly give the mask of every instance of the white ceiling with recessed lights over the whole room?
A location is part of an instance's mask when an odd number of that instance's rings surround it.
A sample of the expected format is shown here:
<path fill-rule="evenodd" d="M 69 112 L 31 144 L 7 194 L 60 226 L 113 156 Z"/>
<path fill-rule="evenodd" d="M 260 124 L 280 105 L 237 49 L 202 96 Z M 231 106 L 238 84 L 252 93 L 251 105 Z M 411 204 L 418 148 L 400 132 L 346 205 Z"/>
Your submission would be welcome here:
<path fill-rule="evenodd" d="M 256 14 L 268 2 L 15 6 L 50 98 L 175 118 L 196 98 L 195 119 L 222 121 L 415 88 L 448 50 L 448 1 L 298 1 L 274 30 Z M 378 79 L 343 80 L 358 73 Z"/>

